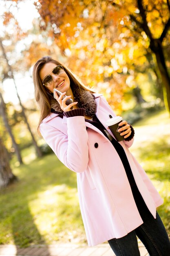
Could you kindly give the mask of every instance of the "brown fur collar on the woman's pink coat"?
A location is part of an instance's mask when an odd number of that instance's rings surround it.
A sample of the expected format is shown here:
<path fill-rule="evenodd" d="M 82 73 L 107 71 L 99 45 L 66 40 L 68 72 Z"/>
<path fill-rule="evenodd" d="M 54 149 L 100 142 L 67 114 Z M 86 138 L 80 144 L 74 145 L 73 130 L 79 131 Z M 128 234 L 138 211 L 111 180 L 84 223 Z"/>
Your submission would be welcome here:
<path fill-rule="evenodd" d="M 97 104 L 95 101 L 95 96 L 88 91 L 83 90 L 82 88 L 71 86 L 73 91 L 74 99 L 77 101 L 78 108 L 85 109 L 85 115 L 93 117 L 96 113 Z M 63 115 L 63 110 L 60 108 L 60 104 L 54 99 L 51 98 L 51 112 Z"/>

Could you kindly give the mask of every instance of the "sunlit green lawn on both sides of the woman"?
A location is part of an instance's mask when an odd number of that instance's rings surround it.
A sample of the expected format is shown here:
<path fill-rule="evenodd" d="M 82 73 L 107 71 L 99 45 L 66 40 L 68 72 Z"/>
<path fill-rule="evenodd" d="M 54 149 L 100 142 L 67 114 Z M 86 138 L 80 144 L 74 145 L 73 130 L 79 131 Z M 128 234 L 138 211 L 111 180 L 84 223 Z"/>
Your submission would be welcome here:
<path fill-rule="evenodd" d="M 168 233 L 170 223 L 170 119 L 166 111 L 135 124 L 130 151 L 164 199 L 158 208 Z M 22 151 L 24 165 L 13 159 L 19 181 L 0 191 L 0 244 L 28 246 L 86 242 L 79 210 L 76 173 L 54 154 L 36 159 L 33 147 Z"/>

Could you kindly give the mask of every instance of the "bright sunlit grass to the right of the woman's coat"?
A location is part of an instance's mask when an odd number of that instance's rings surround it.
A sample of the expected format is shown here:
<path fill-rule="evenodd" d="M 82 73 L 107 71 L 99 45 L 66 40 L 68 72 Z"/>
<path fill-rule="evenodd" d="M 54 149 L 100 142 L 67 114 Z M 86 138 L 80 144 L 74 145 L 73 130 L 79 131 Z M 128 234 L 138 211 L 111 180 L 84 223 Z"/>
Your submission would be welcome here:
<path fill-rule="evenodd" d="M 157 211 L 170 236 L 170 117 L 159 111 L 138 121 L 130 151 L 144 168 L 164 200 Z"/>

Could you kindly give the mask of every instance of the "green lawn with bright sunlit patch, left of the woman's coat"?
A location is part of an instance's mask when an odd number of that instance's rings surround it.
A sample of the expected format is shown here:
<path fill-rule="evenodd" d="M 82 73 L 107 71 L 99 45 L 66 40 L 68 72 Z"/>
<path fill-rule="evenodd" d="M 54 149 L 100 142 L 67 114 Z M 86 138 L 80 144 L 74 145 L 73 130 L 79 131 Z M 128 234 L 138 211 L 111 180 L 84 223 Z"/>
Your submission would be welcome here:
<path fill-rule="evenodd" d="M 28 246 L 77 238 L 84 242 L 76 173 L 53 154 L 14 167 L 13 173 L 19 182 L 0 196 L 0 244 Z"/>

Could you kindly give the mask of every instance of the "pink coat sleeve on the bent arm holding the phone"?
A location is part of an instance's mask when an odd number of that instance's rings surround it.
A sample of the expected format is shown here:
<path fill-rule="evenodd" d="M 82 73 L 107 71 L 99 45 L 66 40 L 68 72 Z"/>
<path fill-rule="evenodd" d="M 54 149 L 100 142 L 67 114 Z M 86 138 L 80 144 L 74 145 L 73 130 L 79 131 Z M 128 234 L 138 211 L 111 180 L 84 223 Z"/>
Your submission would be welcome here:
<path fill-rule="evenodd" d="M 88 164 L 88 134 L 84 117 L 75 116 L 66 120 L 68 136 L 48 123 L 40 124 L 40 132 L 58 159 L 72 171 L 81 173 Z"/>

